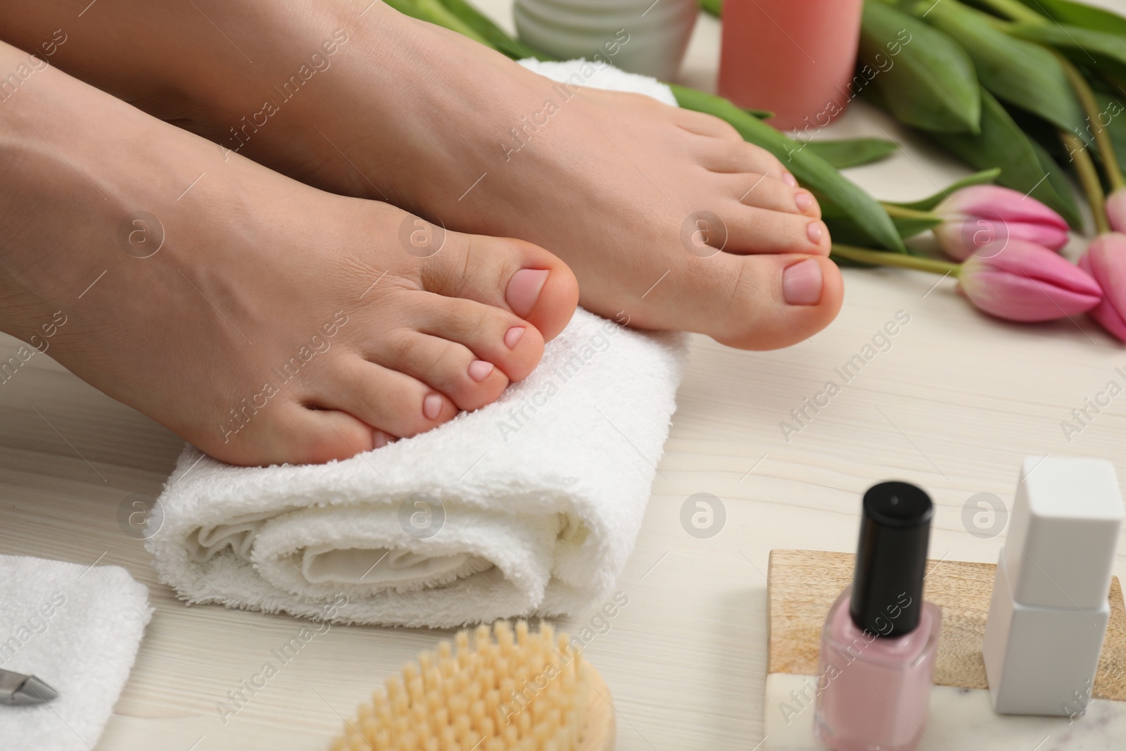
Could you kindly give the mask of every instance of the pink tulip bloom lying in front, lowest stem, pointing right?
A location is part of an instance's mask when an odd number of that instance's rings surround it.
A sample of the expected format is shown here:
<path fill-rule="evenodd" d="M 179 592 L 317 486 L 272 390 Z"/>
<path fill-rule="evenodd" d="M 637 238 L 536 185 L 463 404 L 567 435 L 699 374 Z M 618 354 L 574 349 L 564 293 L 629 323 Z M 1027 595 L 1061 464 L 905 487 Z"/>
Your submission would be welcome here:
<path fill-rule="evenodd" d="M 1025 240 L 980 248 L 962 265 L 958 286 L 978 309 L 1010 321 L 1062 319 L 1102 301 L 1087 271 Z"/>

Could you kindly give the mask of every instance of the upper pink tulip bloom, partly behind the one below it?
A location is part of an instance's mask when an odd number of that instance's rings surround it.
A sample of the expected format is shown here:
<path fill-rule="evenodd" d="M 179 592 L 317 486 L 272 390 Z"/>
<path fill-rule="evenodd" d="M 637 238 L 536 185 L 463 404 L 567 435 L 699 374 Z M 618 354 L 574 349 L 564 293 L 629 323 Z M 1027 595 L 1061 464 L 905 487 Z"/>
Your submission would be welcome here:
<path fill-rule="evenodd" d="M 1052 250 L 1067 243 L 1062 216 L 1035 198 L 995 185 L 957 190 L 935 207 L 935 214 L 944 220 L 933 230 L 938 244 L 959 261 L 991 242 L 1026 240 Z"/>

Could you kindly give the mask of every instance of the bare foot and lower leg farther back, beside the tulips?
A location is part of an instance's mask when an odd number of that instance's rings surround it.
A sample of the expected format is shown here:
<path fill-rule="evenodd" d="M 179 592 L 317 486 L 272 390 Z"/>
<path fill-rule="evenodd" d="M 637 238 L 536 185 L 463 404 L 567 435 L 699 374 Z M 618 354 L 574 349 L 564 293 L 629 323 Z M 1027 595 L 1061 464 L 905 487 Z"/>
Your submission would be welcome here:
<path fill-rule="evenodd" d="M 311 185 L 538 243 L 586 307 L 634 325 L 770 349 L 840 309 L 816 202 L 716 118 L 564 91 L 382 2 L 196 5 L 91 11 L 56 62 Z M 0 24 L 32 44 L 51 12 Z M 686 242 L 696 227 L 722 252 Z"/>

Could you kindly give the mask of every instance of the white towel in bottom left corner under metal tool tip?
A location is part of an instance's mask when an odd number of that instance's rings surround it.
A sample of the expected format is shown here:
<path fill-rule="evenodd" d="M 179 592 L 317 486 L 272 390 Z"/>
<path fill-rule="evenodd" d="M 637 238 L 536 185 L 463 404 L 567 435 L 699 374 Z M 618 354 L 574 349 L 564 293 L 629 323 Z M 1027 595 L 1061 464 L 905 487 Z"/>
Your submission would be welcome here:
<path fill-rule="evenodd" d="M 59 692 L 0 707 L 0 749 L 92 749 L 151 615 L 149 590 L 119 566 L 0 555 L 0 668 Z"/>

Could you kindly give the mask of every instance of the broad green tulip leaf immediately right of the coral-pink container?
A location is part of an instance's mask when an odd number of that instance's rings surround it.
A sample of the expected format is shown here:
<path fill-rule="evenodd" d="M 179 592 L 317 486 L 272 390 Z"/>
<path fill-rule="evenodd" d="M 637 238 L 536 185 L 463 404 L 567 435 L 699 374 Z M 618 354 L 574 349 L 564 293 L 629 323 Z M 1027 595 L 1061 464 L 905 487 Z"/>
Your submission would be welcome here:
<path fill-rule="evenodd" d="M 941 133 L 980 132 L 973 61 L 957 42 L 926 21 L 879 0 L 866 0 L 858 65 L 860 73 L 872 71 L 873 87 L 901 123 Z"/>

